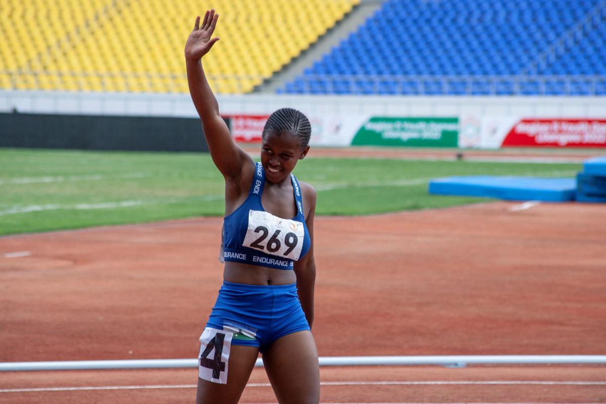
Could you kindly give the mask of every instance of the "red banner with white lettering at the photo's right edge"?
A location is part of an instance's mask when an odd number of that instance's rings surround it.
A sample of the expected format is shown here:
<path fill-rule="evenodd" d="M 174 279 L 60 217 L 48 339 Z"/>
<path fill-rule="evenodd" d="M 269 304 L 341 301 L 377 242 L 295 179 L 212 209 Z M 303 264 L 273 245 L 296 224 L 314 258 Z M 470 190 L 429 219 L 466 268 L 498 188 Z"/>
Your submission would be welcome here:
<path fill-rule="evenodd" d="M 606 119 L 522 119 L 502 145 L 606 147 Z"/>

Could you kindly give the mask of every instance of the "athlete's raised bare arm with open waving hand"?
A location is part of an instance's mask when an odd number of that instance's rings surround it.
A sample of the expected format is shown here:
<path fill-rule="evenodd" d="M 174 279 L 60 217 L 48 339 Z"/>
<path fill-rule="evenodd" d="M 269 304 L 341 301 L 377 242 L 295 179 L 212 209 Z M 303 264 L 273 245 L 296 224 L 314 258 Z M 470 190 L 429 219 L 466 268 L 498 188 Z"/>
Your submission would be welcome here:
<path fill-rule="evenodd" d="M 217 25 L 218 14 L 215 10 L 207 11 L 200 25 L 196 18 L 187 42 L 185 43 L 185 62 L 187 64 L 187 82 L 191 100 L 202 121 L 204 137 L 215 165 L 225 180 L 236 180 L 241 176 L 245 164 L 251 166 L 252 159 L 233 141 L 229 129 L 219 113 L 219 104 L 210 89 L 204 69 L 202 56 L 206 55 L 219 38 L 211 38 Z"/>

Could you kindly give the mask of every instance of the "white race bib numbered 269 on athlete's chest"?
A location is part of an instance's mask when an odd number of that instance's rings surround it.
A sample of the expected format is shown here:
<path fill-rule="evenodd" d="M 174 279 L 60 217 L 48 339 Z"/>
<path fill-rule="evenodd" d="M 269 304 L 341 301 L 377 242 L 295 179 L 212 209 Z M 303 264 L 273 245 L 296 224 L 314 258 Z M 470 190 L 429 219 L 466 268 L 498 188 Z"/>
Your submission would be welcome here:
<path fill-rule="evenodd" d="M 302 222 L 282 219 L 265 211 L 250 210 L 242 245 L 273 256 L 298 260 L 304 237 Z"/>

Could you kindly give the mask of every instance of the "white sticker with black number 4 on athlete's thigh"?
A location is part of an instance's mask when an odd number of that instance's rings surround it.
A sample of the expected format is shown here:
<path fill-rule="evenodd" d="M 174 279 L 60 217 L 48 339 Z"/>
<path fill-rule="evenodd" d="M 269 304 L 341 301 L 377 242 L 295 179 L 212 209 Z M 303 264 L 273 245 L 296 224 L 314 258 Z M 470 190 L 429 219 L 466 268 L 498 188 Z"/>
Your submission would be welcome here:
<path fill-rule="evenodd" d="M 198 376 L 208 382 L 227 384 L 227 364 L 231 348 L 230 331 L 207 327 L 200 336 Z"/>

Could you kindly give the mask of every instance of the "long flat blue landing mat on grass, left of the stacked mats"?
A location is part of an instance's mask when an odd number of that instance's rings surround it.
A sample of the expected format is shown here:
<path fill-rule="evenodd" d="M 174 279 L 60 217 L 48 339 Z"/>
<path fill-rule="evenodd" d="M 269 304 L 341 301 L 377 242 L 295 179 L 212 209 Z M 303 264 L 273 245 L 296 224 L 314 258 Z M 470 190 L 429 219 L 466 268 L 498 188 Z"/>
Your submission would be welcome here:
<path fill-rule="evenodd" d="M 430 194 L 493 197 L 507 200 L 574 200 L 576 179 L 465 176 L 432 179 Z"/>

